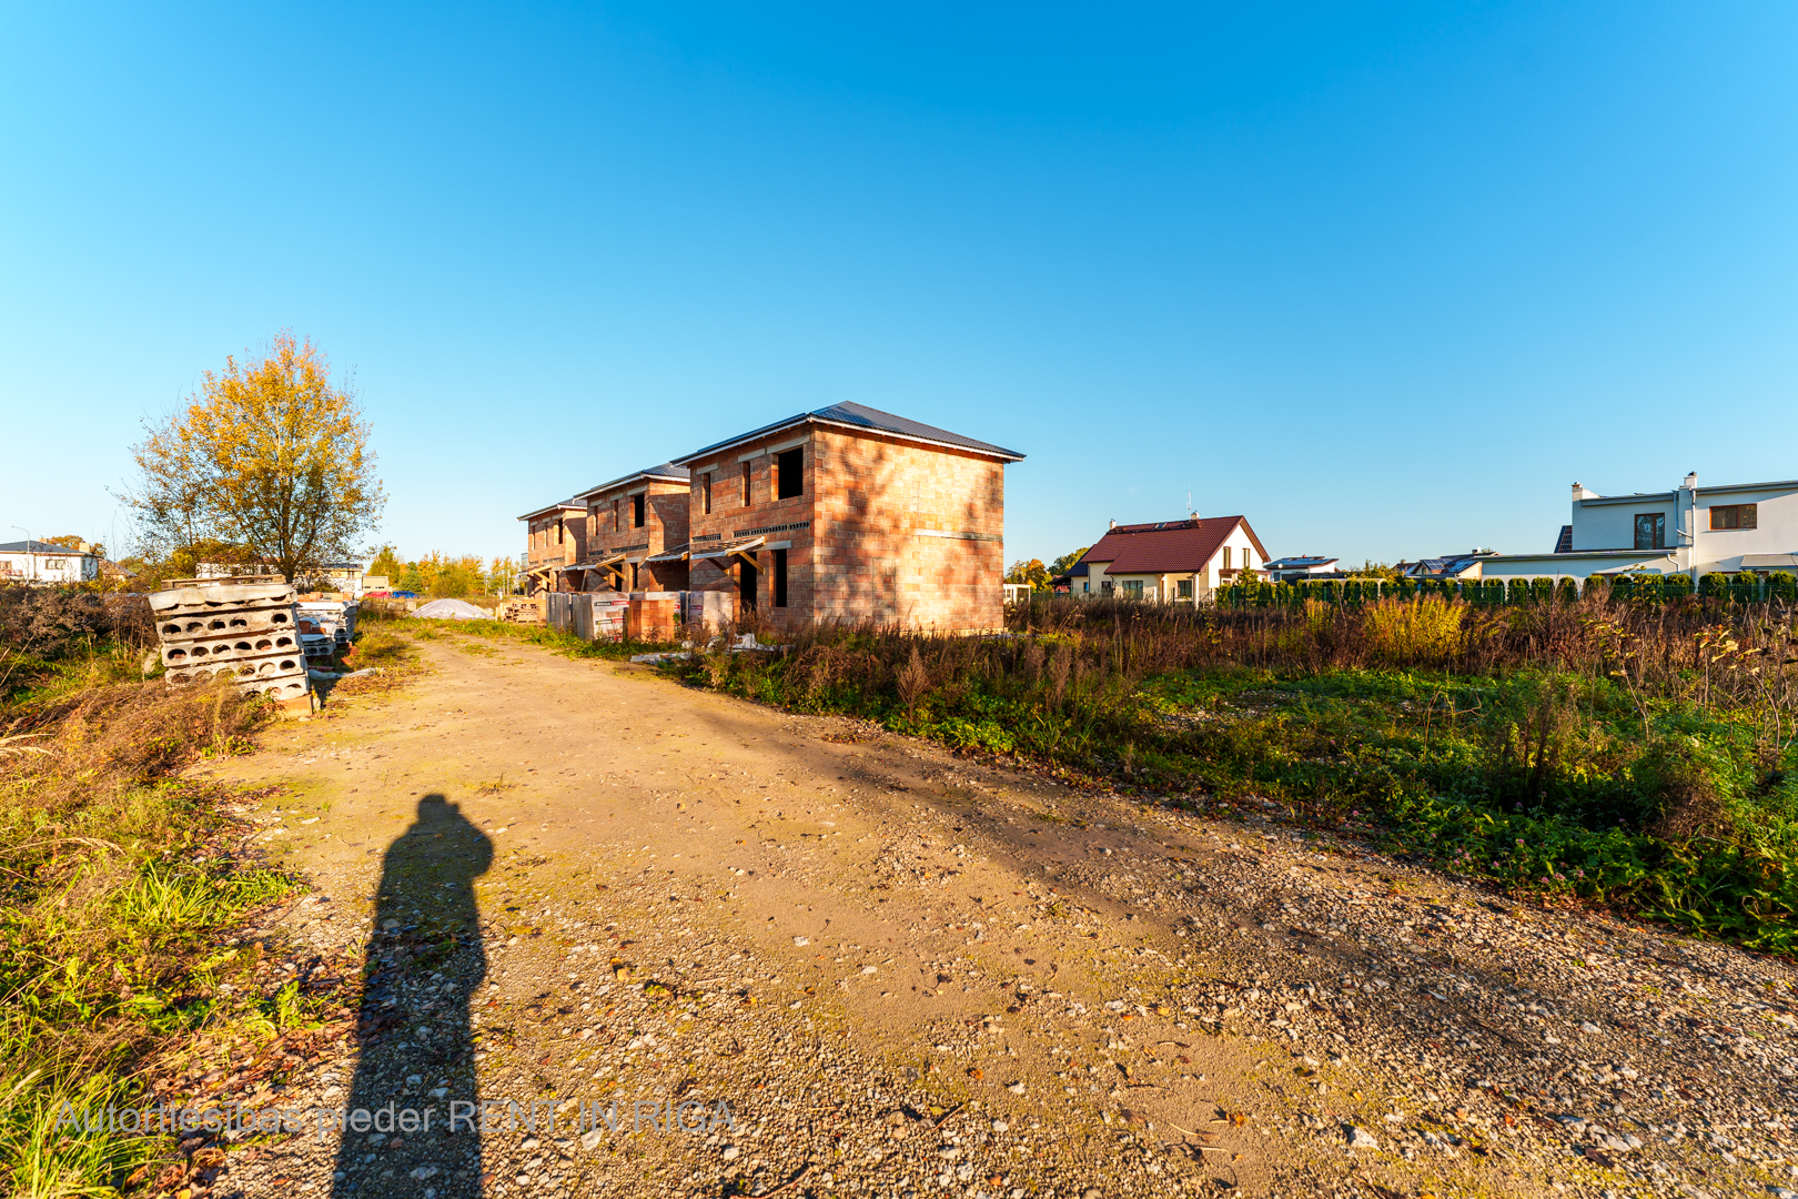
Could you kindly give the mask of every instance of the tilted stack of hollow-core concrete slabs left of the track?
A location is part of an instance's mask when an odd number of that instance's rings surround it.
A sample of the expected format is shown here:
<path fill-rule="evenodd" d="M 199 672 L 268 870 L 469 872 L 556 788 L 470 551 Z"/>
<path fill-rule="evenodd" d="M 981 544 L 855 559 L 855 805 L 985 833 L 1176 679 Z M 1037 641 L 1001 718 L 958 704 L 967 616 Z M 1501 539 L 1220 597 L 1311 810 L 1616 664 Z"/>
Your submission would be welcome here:
<path fill-rule="evenodd" d="M 300 617 L 289 584 L 178 586 L 151 593 L 149 609 L 171 687 L 223 676 L 270 699 L 306 696 Z"/>

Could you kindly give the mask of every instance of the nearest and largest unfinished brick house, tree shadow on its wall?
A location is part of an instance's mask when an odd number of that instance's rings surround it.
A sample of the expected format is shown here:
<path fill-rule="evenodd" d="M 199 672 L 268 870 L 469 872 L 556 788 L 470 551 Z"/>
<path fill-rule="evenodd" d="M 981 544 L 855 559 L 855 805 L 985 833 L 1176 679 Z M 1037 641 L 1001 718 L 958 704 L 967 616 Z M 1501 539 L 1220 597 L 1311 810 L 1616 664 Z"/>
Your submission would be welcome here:
<path fill-rule="evenodd" d="M 1021 453 L 832 404 L 674 460 L 687 579 L 777 626 L 1003 626 L 1005 464 Z M 669 550 L 672 554 L 672 550 Z"/>

